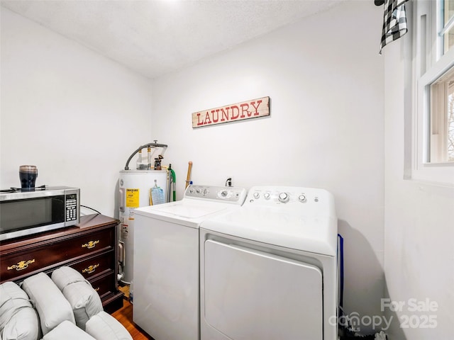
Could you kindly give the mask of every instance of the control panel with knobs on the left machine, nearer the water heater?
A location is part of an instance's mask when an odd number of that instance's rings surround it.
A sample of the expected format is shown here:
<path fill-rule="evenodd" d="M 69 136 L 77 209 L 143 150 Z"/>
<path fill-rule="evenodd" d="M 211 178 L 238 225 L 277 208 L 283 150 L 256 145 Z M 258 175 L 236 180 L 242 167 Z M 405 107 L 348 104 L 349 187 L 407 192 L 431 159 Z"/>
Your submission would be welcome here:
<path fill-rule="evenodd" d="M 242 205 L 247 193 L 245 188 L 233 186 L 199 186 L 191 184 L 184 192 L 184 198 L 223 201 Z"/>

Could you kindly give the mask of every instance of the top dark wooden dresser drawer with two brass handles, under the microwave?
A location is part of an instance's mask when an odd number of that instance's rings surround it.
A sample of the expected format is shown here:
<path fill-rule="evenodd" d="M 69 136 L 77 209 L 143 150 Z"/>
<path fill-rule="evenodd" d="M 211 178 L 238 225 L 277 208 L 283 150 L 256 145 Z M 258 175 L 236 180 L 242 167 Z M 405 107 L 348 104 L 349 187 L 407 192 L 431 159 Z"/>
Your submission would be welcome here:
<path fill-rule="evenodd" d="M 65 264 L 78 257 L 89 256 L 99 251 L 114 250 L 115 230 L 104 229 L 100 232 L 85 234 L 43 244 L 34 249 L 14 252 L 0 258 L 1 281 L 12 280 L 18 276 L 46 270 L 55 263 Z"/>

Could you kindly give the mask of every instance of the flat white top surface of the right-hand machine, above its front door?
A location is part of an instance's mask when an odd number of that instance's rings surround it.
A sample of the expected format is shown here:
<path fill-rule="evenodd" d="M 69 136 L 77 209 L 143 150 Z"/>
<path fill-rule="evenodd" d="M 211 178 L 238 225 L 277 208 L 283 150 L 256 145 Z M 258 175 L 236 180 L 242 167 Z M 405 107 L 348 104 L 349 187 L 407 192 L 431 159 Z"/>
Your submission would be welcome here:
<path fill-rule="evenodd" d="M 336 256 L 337 219 L 273 207 L 247 207 L 201 223 L 201 228 L 257 242 Z"/>

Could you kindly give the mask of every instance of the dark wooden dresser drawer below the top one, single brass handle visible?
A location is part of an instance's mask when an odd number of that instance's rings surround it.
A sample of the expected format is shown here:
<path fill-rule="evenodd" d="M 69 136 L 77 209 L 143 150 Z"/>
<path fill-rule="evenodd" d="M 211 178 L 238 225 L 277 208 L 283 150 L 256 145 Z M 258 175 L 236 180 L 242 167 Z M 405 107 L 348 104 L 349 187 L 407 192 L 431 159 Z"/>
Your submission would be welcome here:
<path fill-rule="evenodd" d="M 94 280 L 96 276 L 106 273 L 114 273 L 115 269 L 114 249 L 105 253 L 90 256 L 87 259 L 71 263 L 70 266 L 81 273 L 87 280 Z"/>

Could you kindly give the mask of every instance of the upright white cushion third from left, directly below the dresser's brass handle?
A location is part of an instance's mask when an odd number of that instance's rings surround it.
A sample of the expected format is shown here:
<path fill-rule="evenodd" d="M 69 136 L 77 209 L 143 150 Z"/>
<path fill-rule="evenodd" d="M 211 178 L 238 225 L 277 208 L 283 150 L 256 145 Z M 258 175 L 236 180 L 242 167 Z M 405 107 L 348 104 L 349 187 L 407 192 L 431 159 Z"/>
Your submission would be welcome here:
<path fill-rule="evenodd" d="M 85 330 L 85 324 L 90 317 L 103 310 L 96 290 L 81 273 L 67 266 L 53 271 L 52 281 L 70 302 L 77 326 Z"/>

